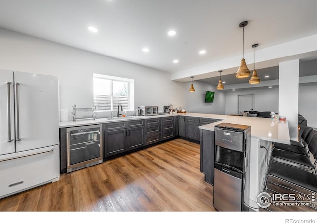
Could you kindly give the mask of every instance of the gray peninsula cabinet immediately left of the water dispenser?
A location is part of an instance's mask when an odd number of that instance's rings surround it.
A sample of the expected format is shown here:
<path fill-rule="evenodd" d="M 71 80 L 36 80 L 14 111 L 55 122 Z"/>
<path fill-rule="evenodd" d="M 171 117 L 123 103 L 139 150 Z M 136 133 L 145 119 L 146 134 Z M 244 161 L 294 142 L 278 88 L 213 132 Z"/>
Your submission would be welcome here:
<path fill-rule="evenodd" d="M 214 178 L 214 132 L 200 130 L 200 171 L 205 181 L 213 185 Z"/>

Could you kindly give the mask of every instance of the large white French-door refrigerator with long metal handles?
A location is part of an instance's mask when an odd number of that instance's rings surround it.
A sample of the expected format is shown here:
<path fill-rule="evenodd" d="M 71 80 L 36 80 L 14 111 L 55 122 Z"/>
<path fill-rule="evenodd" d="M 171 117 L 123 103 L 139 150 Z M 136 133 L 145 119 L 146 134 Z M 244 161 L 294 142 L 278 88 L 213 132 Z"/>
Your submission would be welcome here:
<path fill-rule="evenodd" d="M 59 180 L 56 76 L 0 70 L 0 198 Z"/>

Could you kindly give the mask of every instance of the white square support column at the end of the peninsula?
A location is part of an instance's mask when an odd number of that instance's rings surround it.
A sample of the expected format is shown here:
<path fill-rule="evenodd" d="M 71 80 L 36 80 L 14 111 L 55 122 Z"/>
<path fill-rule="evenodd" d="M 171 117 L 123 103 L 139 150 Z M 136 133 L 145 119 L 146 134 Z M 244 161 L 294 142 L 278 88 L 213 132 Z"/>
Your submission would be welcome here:
<path fill-rule="evenodd" d="M 288 121 L 290 139 L 298 139 L 299 59 L 279 64 L 278 114 Z"/>

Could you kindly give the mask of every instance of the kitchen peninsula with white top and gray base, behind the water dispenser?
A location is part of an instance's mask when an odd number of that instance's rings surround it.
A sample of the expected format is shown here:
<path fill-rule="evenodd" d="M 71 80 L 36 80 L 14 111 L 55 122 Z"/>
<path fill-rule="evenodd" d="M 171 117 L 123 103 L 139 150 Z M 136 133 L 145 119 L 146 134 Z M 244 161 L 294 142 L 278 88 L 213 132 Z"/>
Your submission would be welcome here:
<path fill-rule="evenodd" d="M 214 159 L 214 127 L 220 123 L 231 123 L 251 126 L 251 148 L 249 191 L 246 191 L 246 204 L 250 209 L 257 211 L 256 198 L 264 190 L 265 176 L 268 162 L 272 152 L 272 142 L 290 144 L 288 122 L 275 121 L 270 118 L 227 116 L 213 114 L 188 113 L 187 116 L 223 119 L 207 125 L 199 126 L 201 129 L 201 172 L 205 173 L 205 181 L 213 184 L 213 159 Z M 204 141 L 207 141 L 204 142 Z"/>

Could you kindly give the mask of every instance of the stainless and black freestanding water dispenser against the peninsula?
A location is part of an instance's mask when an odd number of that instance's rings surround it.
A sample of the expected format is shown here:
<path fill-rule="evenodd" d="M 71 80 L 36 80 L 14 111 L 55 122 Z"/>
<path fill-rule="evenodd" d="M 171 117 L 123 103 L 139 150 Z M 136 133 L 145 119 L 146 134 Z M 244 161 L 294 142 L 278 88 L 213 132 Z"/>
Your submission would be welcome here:
<path fill-rule="evenodd" d="M 213 206 L 218 211 L 245 211 L 249 193 L 251 127 L 215 126 Z"/>

